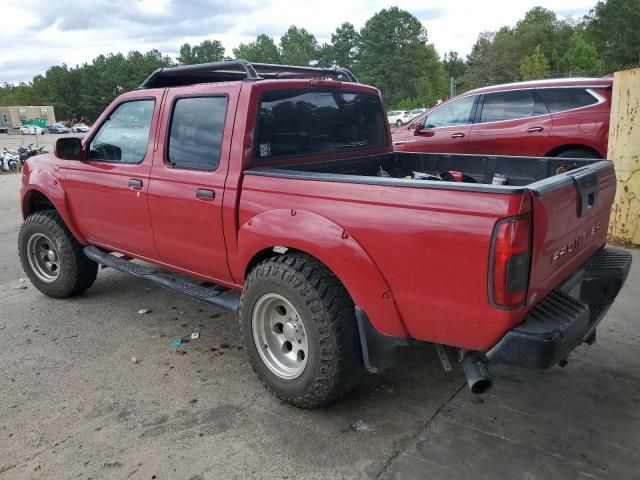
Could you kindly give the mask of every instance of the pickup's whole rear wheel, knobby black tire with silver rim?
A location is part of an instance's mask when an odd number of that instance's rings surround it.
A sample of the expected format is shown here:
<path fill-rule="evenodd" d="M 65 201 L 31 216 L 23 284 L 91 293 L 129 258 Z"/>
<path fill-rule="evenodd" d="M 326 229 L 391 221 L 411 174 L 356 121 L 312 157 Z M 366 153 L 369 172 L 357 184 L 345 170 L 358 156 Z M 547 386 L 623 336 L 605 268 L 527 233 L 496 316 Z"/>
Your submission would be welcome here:
<path fill-rule="evenodd" d="M 357 385 L 353 301 L 318 260 L 286 254 L 258 264 L 242 291 L 240 326 L 253 370 L 281 400 L 314 408 Z"/>

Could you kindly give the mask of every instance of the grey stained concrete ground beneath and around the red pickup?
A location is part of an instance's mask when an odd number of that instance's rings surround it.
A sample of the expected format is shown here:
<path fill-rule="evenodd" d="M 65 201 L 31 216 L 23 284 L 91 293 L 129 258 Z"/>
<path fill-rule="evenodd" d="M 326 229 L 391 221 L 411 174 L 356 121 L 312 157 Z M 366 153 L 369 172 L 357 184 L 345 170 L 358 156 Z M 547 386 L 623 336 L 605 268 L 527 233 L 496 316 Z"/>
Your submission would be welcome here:
<path fill-rule="evenodd" d="M 639 476 L 637 252 L 598 343 L 564 369 L 496 368 L 478 397 L 416 349 L 303 411 L 258 383 L 233 315 L 109 269 L 72 300 L 21 283 L 18 188 L 0 175 L 2 480 Z"/>

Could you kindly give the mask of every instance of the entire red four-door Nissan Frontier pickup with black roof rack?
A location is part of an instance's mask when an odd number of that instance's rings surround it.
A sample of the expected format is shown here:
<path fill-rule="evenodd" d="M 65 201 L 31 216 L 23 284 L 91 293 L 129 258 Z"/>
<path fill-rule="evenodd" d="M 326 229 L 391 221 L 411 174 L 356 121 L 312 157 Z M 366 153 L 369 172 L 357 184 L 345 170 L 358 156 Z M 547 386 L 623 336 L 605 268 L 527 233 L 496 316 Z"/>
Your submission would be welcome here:
<path fill-rule="evenodd" d="M 23 268 L 53 297 L 102 264 L 238 310 L 255 372 L 301 407 L 406 345 L 453 352 L 481 392 L 490 362 L 547 368 L 591 343 L 631 263 L 605 248 L 611 162 L 390 138 L 347 70 L 160 69 L 26 162 Z"/>

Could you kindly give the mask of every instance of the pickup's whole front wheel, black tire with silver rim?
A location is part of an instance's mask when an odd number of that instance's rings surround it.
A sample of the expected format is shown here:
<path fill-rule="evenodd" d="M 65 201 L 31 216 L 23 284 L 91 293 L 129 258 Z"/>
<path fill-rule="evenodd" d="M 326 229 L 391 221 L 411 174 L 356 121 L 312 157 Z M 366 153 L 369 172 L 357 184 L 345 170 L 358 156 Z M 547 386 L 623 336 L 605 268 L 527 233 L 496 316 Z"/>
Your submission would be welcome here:
<path fill-rule="evenodd" d="M 18 253 L 31 283 L 50 297 L 77 295 L 93 285 L 98 274 L 98 264 L 84 255 L 55 210 L 27 217 L 20 229 Z"/>

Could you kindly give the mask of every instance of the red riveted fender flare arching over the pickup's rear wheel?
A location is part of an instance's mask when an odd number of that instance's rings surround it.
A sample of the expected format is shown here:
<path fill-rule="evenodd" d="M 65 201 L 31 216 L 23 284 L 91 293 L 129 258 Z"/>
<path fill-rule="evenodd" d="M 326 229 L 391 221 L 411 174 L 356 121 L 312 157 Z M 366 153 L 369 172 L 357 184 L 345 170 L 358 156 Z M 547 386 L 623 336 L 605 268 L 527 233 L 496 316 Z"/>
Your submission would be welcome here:
<path fill-rule="evenodd" d="M 238 232 L 235 278 L 244 278 L 253 257 L 274 246 L 300 250 L 324 263 L 379 333 L 408 335 L 384 276 L 358 241 L 339 225 L 301 210 L 269 210 L 256 215 Z"/>

